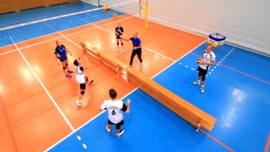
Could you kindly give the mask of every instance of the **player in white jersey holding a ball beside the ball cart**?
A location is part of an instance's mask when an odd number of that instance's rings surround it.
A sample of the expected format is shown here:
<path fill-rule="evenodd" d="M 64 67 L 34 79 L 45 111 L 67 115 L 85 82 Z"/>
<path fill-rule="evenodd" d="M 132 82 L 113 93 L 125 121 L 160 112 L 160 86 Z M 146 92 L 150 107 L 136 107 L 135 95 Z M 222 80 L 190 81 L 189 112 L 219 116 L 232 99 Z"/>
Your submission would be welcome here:
<path fill-rule="evenodd" d="M 198 80 L 193 82 L 193 85 L 200 85 L 200 80 L 202 79 L 202 87 L 201 87 L 201 93 L 204 93 L 204 85 L 205 85 L 205 76 L 207 74 L 207 70 L 211 65 L 215 64 L 216 56 L 212 52 L 213 47 L 211 45 L 207 46 L 207 49 L 202 54 L 202 63 L 199 64 L 198 67 Z"/>

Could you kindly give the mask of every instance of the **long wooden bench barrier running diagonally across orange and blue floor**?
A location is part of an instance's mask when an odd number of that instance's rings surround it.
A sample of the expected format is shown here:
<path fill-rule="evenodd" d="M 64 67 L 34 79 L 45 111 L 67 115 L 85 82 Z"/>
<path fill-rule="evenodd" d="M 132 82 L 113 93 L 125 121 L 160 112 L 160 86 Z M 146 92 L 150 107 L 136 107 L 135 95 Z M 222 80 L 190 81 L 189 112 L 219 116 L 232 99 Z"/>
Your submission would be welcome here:
<path fill-rule="evenodd" d="M 139 71 L 123 63 L 121 60 L 112 57 L 107 52 L 100 49 L 92 49 L 89 42 L 84 41 L 81 45 L 83 51 L 89 56 L 101 62 L 105 67 L 112 69 L 112 71 L 118 76 L 122 76 L 126 81 L 138 86 L 146 94 L 149 94 L 159 103 L 162 103 L 172 112 L 175 112 L 185 121 L 192 124 L 197 131 L 202 127 L 206 130 L 212 130 L 216 119 L 210 114 L 203 112 L 192 103 L 186 102 L 183 98 L 170 92 L 162 85 L 158 85 L 155 81 L 142 75 Z"/>

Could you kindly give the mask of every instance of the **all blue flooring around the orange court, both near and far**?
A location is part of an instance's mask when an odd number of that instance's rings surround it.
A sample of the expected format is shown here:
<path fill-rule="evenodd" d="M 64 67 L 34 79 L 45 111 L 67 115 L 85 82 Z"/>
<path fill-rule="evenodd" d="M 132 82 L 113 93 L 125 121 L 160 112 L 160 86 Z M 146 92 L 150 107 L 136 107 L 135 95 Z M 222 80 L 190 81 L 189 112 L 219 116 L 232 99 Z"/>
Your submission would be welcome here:
<path fill-rule="evenodd" d="M 38 11 L 5 13 L 0 15 L 0 28 L 35 21 L 38 17 L 48 18 L 91 8 L 96 6 L 72 3 L 39 8 Z M 0 47 L 13 44 L 11 39 L 15 43 L 31 40 L 108 18 L 112 18 L 112 12 L 94 11 L 50 20 L 46 24 L 39 22 L 0 31 Z M 192 85 L 192 82 L 197 77 L 197 55 L 202 55 L 205 48 L 206 43 L 175 62 L 154 80 L 214 116 L 217 122 L 209 133 L 229 148 L 241 152 L 264 151 L 270 130 L 270 59 L 224 44 L 214 50 L 220 64 L 209 69 L 211 74 L 206 78 L 205 93 L 201 94 L 200 86 Z M 120 139 L 114 137 L 115 131 L 111 136 L 107 135 L 104 128 L 107 113 L 103 113 L 49 151 L 229 151 L 202 131 L 196 132 L 193 126 L 148 94 L 136 90 L 126 98 L 132 101 L 131 110 L 130 114 L 124 115 L 123 128 L 126 132 Z M 126 98 L 123 100 L 126 101 Z"/>

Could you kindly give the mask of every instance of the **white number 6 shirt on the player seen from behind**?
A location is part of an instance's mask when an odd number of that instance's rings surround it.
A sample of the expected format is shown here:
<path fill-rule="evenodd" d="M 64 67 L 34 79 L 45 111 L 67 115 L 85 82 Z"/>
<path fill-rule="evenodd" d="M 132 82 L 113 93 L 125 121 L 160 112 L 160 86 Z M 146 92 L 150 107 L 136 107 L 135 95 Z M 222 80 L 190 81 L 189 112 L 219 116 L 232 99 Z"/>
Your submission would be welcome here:
<path fill-rule="evenodd" d="M 122 117 L 122 113 L 121 110 L 123 109 L 123 105 L 125 103 L 123 103 L 120 100 L 106 100 L 104 101 L 104 103 L 101 105 L 101 109 L 102 110 L 107 110 L 108 111 L 108 119 L 110 121 L 112 121 L 112 123 L 119 123 L 120 121 L 122 121 L 123 117 Z"/>

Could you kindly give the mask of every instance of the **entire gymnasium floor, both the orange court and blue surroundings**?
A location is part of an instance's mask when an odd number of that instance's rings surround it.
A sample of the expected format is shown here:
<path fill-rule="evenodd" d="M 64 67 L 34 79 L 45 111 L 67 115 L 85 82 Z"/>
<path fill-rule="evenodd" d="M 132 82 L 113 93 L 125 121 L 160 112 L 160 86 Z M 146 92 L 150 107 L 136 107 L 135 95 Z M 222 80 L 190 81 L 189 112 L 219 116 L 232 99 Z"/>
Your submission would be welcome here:
<path fill-rule="evenodd" d="M 20 13 L 0 14 L 0 151 L 268 151 L 270 142 L 270 58 L 225 44 L 214 49 L 216 64 L 209 70 L 205 93 L 192 84 L 196 59 L 207 38 L 119 13 L 77 19 L 58 18 L 16 27 L 66 13 L 96 8 L 92 4 L 58 4 Z M 87 13 L 91 16 L 91 13 Z M 71 21 L 69 21 L 71 22 Z M 196 132 L 192 125 L 169 111 L 135 85 L 127 83 L 94 58 L 87 57 L 86 75 L 94 84 L 86 88 L 84 106 L 75 105 L 79 86 L 66 78 L 54 59 L 55 40 L 73 53 L 69 67 L 89 41 L 128 63 L 131 44 L 116 52 L 117 22 L 130 38 L 138 31 L 143 64 L 133 68 L 184 100 L 211 114 L 217 122 L 211 131 Z M 12 28 L 6 28 L 11 27 Z M 72 75 L 75 77 L 75 75 Z M 107 113 L 100 110 L 108 90 L 115 88 L 123 101 L 131 100 L 124 114 L 120 139 L 105 131 Z"/>

